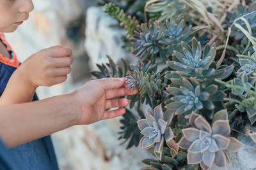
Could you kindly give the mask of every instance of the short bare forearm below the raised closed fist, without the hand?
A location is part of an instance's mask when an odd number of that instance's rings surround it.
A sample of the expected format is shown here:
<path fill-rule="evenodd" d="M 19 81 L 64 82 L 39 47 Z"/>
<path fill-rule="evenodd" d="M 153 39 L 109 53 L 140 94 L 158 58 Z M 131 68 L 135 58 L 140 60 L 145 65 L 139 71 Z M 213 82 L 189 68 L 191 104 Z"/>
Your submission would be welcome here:
<path fill-rule="evenodd" d="M 0 97 L 0 105 L 27 103 L 32 101 L 36 87 L 33 87 L 19 68 L 12 74 L 3 95 Z"/>

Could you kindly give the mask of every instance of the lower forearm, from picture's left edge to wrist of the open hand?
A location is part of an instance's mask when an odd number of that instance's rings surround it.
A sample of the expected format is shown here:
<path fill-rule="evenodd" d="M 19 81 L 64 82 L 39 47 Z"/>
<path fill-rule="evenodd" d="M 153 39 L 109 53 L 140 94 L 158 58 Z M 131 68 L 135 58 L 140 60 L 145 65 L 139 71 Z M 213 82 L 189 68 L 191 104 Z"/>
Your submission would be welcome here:
<path fill-rule="evenodd" d="M 7 146 L 22 145 L 60 131 L 77 122 L 72 94 L 33 103 L 0 106 L 0 136 Z"/>

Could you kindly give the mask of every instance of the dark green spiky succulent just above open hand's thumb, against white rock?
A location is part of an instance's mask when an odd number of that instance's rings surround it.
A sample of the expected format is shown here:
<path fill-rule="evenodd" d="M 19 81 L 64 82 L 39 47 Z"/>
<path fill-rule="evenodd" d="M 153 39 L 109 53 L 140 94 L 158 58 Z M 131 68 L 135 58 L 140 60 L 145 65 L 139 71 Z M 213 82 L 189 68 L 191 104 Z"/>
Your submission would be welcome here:
<path fill-rule="evenodd" d="M 96 78 L 108 78 L 108 77 L 125 77 L 128 71 L 131 71 L 130 64 L 121 59 L 122 67 L 116 66 L 115 62 L 107 55 L 108 64 L 97 64 L 99 71 L 92 71 L 91 74 Z"/>

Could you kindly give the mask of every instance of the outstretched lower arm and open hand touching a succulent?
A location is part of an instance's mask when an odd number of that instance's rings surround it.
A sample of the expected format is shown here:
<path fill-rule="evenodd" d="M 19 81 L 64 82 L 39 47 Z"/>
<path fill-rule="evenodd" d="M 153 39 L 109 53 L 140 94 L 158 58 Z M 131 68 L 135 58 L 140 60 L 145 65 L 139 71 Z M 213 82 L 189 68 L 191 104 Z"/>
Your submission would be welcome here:
<path fill-rule="evenodd" d="M 0 136 L 13 147 L 42 138 L 72 125 L 92 124 L 125 113 L 128 100 L 113 99 L 133 95 L 124 87 L 125 79 L 104 78 L 86 83 L 72 94 L 33 103 L 0 106 Z M 117 110 L 106 111 L 109 108 Z"/>

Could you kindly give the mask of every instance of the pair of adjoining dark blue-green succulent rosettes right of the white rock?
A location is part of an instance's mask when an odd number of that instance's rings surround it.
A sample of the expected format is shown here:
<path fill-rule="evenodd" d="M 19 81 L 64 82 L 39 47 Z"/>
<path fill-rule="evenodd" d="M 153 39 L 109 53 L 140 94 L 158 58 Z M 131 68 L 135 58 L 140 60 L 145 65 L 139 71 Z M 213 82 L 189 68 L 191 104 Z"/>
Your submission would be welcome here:
<path fill-rule="evenodd" d="M 140 57 L 141 62 L 156 60 L 159 55 L 164 61 L 173 54 L 173 49 L 180 48 L 180 41 L 189 43 L 191 38 L 191 25 L 184 27 L 184 20 L 175 17 L 165 22 L 153 22 L 138 25 L 137 31 L 130 39 L 136 46 L 134 54 Z"/>

